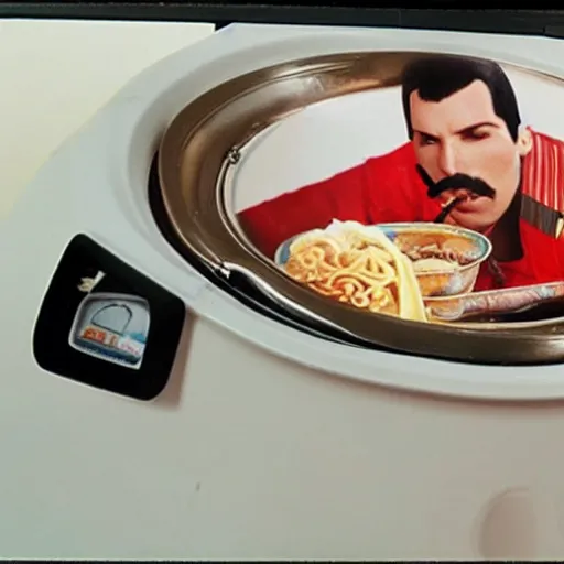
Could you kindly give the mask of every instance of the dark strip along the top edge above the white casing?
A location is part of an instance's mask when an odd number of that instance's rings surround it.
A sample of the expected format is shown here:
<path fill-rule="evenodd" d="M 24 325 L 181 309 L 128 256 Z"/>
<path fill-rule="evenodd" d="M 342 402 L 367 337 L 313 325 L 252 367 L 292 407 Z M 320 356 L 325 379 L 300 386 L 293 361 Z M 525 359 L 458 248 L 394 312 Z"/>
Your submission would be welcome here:
<path fill-rule="evenodd" d="M 456 9 L 453 9 L 453 4 Z M 375 6 L 379 6 L 375 8 Z M 0 18 L 362 25 L 564 37 L 564 10 L 462 9 L 427 1 L 427 9 L 375 2 L 0 2 Z"/>

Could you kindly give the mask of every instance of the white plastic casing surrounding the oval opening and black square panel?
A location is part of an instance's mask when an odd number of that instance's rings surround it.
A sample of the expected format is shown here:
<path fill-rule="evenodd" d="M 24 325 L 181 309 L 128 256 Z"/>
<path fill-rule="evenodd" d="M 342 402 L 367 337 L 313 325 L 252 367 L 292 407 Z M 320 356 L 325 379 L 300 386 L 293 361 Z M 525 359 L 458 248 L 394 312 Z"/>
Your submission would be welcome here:
<path fill-rule="evenodd" d="M 296 42 L 300 34 L 310 37 Z M 487 48 L 487 40 L 451 37 L 460 50 L 470 39 Z M 563 394 L 560 368 L 453 366 L 281 329 L 192 274 L 158 237 L 141 196 L 147 156 L 171 113 L 226 75 L 303 55 L 307 44 L 323 52 L 425 39 L 438 46 L 448 35 L 228 28 L 143 73 L 57 151 L 0 237 L 0 312 L 10 319 L 0 339 L 2 555 L 562 557 L 562 404 L 429 398 L 326 373 L 530 399 Z M 269 47 L 274 40 L 284 46 Z M 498 48 L 516 58 L 521 47 L 541 64 L 562 48 L 522 42 L 501 39 Z M 171 383 L 153 403 L 73 383 L 33 362 L 36 310 L 76 230 L 200 314 L 187 323 Z M 516 502 L 508 490 L 527 499 Z M 523 523 L 532 534 L 508 545 Z"/>

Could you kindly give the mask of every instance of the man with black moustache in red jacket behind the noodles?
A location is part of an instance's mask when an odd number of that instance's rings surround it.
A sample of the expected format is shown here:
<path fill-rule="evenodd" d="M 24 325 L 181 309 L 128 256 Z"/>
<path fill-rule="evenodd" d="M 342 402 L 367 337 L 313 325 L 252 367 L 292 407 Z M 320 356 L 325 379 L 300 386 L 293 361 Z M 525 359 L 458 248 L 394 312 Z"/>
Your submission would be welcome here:
<path fill-rule="evenodd" d="M 524 128 L 513 88 L 491 61 L 436 55 L 409 65 L 410 141 L 335 176 L 239 214 L 270 258 L 333 219 L 446 223 L 492 242 L 475 290 L 564 280 L 564 143 Z"/>

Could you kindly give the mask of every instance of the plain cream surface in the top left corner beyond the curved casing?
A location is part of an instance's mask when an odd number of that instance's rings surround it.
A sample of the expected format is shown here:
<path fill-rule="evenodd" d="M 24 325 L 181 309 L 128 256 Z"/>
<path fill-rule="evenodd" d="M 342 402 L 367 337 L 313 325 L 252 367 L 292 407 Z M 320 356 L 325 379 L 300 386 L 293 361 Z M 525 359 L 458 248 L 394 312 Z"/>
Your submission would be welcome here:
<path fill-rule="evenodd" d="M 0 20 L 0 220 L 58 145 L 147 66 L 210 23 Z"/>

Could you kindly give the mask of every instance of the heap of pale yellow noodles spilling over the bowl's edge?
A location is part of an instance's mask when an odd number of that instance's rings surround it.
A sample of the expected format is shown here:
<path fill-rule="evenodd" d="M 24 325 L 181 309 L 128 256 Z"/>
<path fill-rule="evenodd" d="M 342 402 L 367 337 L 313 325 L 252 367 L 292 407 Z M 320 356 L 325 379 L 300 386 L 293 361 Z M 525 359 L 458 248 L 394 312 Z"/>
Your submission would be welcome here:
<path fill-rule="evenodd" d="M 378 228 L 334 223 L 299 237 L 290 246 L 285 271 L 338 302 L 426 321 L 411 261 Z"/>

